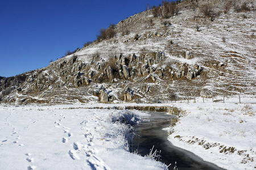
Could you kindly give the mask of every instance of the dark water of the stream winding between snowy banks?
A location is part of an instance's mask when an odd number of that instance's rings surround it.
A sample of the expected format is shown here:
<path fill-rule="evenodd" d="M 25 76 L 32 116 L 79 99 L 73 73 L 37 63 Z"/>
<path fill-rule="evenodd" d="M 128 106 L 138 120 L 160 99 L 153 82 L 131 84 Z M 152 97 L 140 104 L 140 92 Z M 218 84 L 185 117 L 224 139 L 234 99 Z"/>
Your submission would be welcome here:
<path fill-rule="evenodd" d="M 148 117 L 150 121 L 142 122 L 139 125 L 133 125 L 137 134 L 141 135 L 141 138 L 134 137 L 133 151 L 138 149 L 139 155 L 147 155 L 150 152 L 152 146 L 154 151 L 160 152 L 160 162 L 170 165 L 169 169 L 173 169 L 175 162 L 177 162 L 177 168 L 179 170 L 191 170 L 191 169 L 207 169 L 207 170 L 219 170 L 222 169 L 217 165 L 204 162 L 199 156 L 196 156 L 192 152 L 177 148 L 167 140 L 167 131 L 162 130 L 170 126 L 171 119 L 174 116 L 161 112 L 150 112 L 151 117 Z"/>

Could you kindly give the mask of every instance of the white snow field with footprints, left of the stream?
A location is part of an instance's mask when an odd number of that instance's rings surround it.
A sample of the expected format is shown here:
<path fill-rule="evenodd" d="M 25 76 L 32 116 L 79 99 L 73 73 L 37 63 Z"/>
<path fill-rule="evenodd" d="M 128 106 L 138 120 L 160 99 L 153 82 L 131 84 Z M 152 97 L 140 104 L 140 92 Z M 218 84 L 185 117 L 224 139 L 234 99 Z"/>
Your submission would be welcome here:
<path fill-rule="evenodd" d="M 166 169 L 129 152 L 122 111 L 70 107 L 0 105 L 0 169 Z"/>

